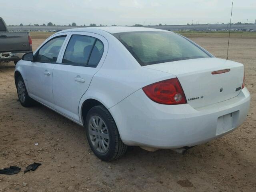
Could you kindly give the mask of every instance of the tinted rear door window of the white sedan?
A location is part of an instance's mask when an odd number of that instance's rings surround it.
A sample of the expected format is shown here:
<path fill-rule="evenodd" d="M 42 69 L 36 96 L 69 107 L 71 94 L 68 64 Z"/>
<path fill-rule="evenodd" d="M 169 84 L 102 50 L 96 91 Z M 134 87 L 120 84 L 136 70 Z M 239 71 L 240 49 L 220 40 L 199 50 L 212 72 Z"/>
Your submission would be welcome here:
<path fill-rule="evenodd" d="M 104 51 L 102 42 L 94 37 L 72 35 L 62 63 L 76 66 L 96 67 Z"/>

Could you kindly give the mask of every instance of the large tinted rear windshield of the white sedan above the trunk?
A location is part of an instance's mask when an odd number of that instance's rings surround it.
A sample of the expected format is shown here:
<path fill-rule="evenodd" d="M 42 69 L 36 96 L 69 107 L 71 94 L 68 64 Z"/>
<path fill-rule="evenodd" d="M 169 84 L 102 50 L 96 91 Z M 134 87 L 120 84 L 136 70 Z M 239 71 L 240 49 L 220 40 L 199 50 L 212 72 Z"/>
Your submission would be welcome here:
<path fill-rule="evenodd" d="M 172 32 L 140 31 L 113 35 L 141 66 L 211 57 L 186 38 Z"/>

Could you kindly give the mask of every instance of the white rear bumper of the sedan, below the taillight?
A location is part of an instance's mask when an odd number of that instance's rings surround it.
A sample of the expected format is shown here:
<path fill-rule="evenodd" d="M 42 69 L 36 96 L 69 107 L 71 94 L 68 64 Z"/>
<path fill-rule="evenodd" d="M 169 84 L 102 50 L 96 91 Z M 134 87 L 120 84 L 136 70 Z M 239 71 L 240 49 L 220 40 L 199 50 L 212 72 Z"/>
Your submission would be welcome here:
<path fill-rule="evenodd" d="M 194 146 L 235 130 L 246 119 L 250 93 L 244 88 L 235 98 L 201 108 L 189 104 L 162 105 L 140 89 L 109 109 L 127 145 L 154 148 Z M 235 114 L 228 130 L 220 119 Z"/>

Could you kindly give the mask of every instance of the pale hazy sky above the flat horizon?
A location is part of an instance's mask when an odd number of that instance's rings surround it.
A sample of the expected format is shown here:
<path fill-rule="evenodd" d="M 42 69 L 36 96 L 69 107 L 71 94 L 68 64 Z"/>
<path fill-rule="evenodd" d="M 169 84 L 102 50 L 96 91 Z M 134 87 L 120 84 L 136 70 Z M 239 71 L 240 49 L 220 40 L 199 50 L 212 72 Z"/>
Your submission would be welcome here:
<path fill-rule="evenodd" d="M 11 0 L 6 24 L 104 25 L 227 23 L 232 0 Z M 256 0 L 234 0 L 232 22 L 254 22 Z"/>

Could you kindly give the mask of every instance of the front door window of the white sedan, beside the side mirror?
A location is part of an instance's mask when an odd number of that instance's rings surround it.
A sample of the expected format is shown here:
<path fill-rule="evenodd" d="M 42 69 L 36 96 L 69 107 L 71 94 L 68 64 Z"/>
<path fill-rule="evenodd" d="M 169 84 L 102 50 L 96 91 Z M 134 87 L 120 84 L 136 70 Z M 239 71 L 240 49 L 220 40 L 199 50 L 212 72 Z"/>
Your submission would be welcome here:
<path fill-rule="evenodd" d="M 35 62 L 55 63 L 66 36 L 51 39 L 35 55 Z"/>

